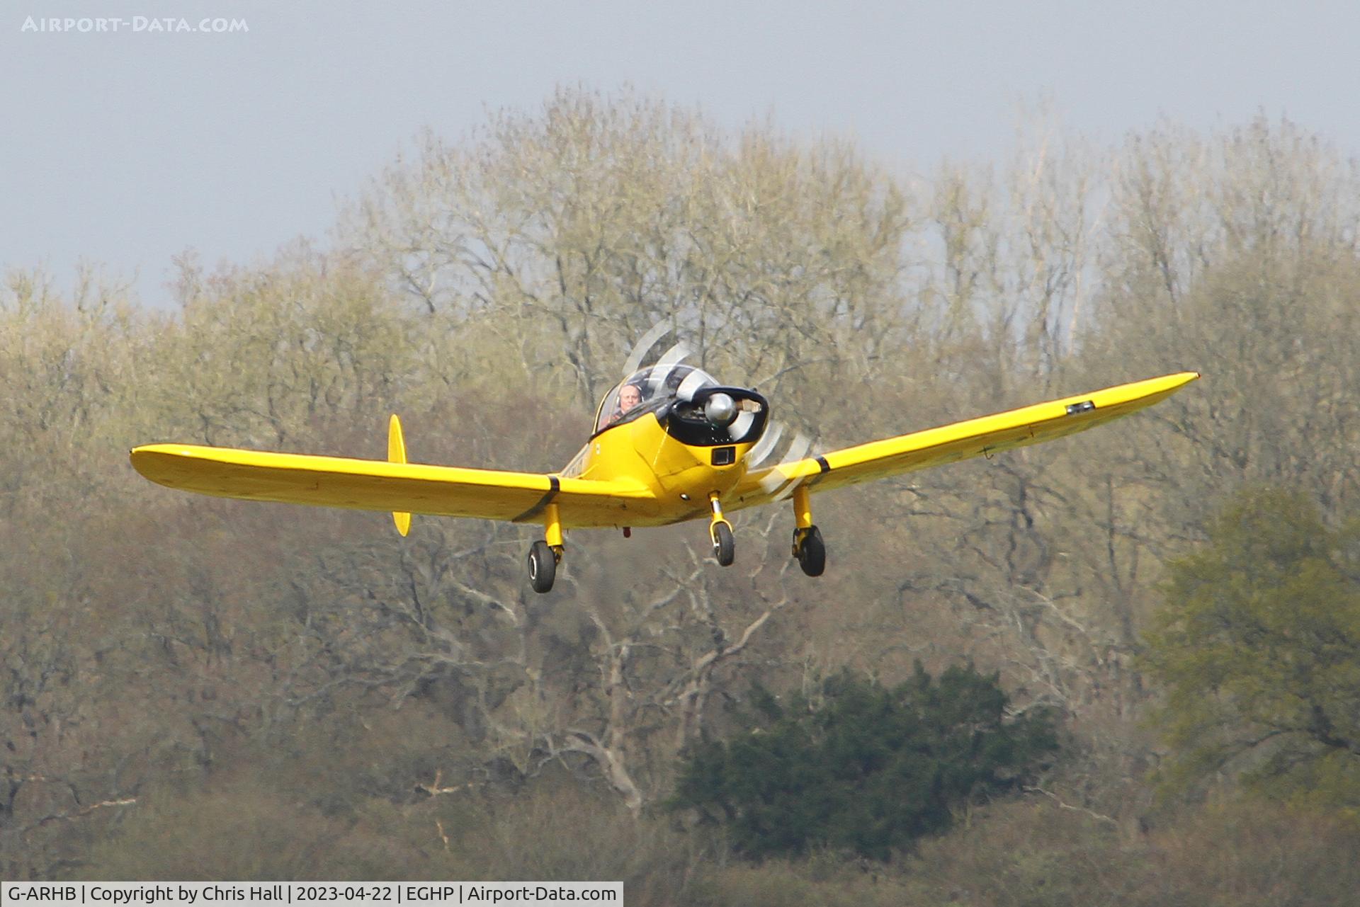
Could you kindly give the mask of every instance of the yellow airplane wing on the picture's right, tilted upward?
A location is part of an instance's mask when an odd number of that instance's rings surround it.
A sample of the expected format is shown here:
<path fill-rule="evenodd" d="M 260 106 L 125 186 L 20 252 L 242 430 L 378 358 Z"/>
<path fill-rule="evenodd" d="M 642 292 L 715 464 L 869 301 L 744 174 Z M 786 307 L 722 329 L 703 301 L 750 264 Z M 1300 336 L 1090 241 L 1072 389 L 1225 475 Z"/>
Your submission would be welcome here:
<path fill-rule="evenodd" d="M 1182 371 L 1136 381 L 752 470 L 724 504 L 752 507 L 783 498 L 800 484 L 824 491 L 1053 441 L 1151 407 L 1198 377 L 1198 371 Z"/>

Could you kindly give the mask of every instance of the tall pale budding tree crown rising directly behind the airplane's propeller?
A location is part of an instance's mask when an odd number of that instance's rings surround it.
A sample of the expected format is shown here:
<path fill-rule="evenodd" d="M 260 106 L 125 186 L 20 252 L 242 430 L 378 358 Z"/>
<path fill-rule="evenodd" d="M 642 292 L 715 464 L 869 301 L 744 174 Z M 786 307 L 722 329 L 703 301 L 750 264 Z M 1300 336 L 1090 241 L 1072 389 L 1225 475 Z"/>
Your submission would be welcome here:
<path fill-rule="evenodd" d="M 495 332 L 505 363 L 581 407 L 658 320 L 764 388 L 862 366 L 903 339 L 908 226 L 898 181 L 847 143 L 582 90 L 458 144 L 422 136 L 345 215 L 356 254 L 431 321 Z"/>

